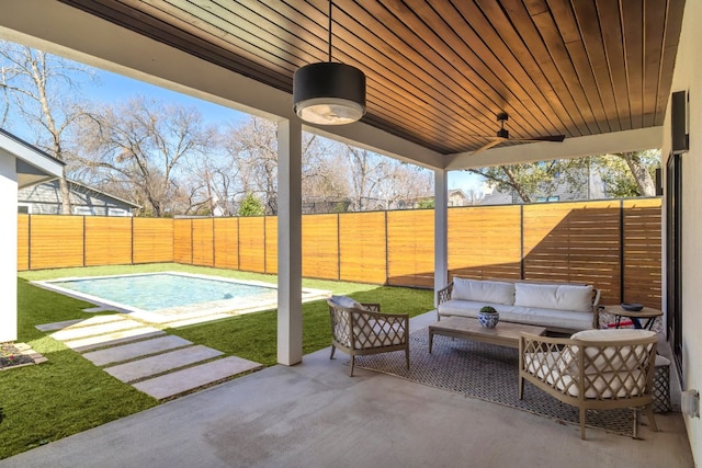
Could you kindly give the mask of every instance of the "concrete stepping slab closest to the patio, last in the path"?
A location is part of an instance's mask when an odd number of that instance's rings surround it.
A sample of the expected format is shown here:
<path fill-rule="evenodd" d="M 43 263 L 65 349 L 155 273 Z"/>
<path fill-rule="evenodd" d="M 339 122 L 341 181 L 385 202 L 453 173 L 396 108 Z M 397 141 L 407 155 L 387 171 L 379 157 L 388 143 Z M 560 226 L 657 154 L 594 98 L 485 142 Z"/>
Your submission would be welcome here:
<path fill-rule="evenodd" d="M 227 377 L 260 368 L 263 368 L 262 364 L 237 356 L 229 356 L 143 380 L 134 384 L 133 387 L 158 400 L 162 400 Z"/>

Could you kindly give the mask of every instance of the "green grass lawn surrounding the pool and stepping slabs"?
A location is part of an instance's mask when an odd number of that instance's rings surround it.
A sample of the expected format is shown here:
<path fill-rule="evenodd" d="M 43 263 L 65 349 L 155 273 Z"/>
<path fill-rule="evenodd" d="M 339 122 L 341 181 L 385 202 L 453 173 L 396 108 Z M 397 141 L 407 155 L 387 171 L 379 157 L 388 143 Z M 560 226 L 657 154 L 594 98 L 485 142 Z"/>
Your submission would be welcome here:
<path fill-rule="evenodd" d="M 30 344 L 48 362 L 0 373 L 0 407 L 4 412 L 4 420 L 0 423 L 0 459 L 159 404 L 154 398 L 110 376 L 47 333 L 36 330 L 37 324 L 94 317 L 94 313 L 82 311 L 94 306 L 35 287 L 29 281 L 156 271 L 276 282 L 272 275 L 173 263 L 20 273 L 18 342 Z M 381 303 L 384 311 L 405 312 L 410 317 L 433 308 L 431 290 L 314 279 L 305 279 L 303 286 L 349 295 L 361 303 Z M 166 332 L 222 351 L 225 355 L 237 355 L 267 366 L 276 362 L 275 310 L 167 329 Z M 304 304 L 304 353 L 327 347 L 330 342 L 326 301 Z"/>

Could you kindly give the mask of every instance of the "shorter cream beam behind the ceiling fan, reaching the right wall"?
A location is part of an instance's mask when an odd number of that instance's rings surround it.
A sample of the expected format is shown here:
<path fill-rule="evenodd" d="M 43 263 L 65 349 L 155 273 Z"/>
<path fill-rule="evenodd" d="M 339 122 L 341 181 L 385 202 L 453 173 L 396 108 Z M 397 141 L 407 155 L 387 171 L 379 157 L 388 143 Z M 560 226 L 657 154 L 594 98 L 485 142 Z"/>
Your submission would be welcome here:
<path fill-rule="evenodd" d="M 611 152 L 660 148 L 663 127 L 612 132 L 587 137 L 566 138 L 563 142 L 532 142 L 491 148 L 475 156 L 461 152 L 448 156 L 446 170 L 519 164 L 555 159 L 585 158 Z"/>

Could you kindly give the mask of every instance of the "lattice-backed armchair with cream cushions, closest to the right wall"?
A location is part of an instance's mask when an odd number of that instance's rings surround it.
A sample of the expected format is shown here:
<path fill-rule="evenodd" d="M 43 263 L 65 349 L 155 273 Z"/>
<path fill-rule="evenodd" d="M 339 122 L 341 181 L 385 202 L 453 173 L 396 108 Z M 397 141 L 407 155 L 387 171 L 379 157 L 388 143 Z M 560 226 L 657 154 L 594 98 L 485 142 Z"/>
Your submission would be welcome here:
<path fill-rule="evenodd" d="M 587 410 L 645 407 L 657 431 L 652 388 L 657 335 L 644 330 L 588 330 L 570 338 L 522 333 L 519 341 L 519 398 L 524 380 L 580 409 L 580 438 Z"/>

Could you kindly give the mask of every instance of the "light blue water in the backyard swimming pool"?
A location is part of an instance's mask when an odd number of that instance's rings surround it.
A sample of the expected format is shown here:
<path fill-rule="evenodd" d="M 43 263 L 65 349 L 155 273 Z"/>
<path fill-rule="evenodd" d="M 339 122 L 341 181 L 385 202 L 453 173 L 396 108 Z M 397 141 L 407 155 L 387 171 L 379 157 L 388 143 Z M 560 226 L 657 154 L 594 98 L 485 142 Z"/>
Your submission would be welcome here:
<path fill-rule="evenodd" d="M 274 293 L 275 288 L 174 273 L 47 282 L 146 311 Z"/>

